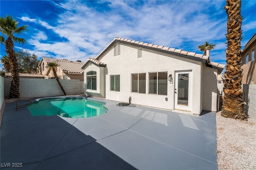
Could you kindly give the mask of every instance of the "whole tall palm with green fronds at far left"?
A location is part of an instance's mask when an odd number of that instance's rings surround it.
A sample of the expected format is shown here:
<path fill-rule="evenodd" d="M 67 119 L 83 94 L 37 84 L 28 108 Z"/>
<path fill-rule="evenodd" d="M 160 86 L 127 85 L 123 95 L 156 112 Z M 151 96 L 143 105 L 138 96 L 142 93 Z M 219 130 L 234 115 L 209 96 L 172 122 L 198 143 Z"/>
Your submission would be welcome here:
<path fill-rule="evenodd" d="M 14 36 L 14 34 L 22 34 L 23 32 L 28 31 L 26 26 L 17 27 L 18 23 L 16 20 L 12 19 L 12 16 L 6 16 L 5 18 L 0 17 L 0 30 L 3 35 L 0 36 L 0 42 L 2 44 L 5 44 L 6 53 L 10 59 L 11 62 L 11 69 L 12 72 L 12 78 L 11 78 L 11 87 L 10 87 L 10 98 L 19 98 L 20 97 L 20 77 L 18 73 L 18 63 L 17 58 L 15 56 L 14 52 L 14 42 L 18 42 L 21 44 L 26 43 L 26 40 L 24 38 L 18 38 Z M 7 37 L 7 39 L 4 39 L 4 36 Z"/>

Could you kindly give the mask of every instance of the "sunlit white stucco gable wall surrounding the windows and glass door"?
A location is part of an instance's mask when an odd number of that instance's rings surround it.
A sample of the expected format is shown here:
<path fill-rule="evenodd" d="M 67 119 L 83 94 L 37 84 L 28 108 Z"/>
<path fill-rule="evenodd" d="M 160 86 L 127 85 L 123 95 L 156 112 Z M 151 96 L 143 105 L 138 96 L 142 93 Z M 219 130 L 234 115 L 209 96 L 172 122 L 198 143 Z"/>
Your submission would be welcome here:
<path fill-rule="evenodd" d="M 114 56 L 113 47 L 99 58 L 106 67 L 106 99 L 133 104 L 174 110 L 175 71 L 192 71 L 192 113 L 200 114 L 201 102 L 201 62 L 142 48 L 142 57 L 138 58 L 139 47 L 121 44 L 121 54 Z M 87 70 L 86 70 L 87 71 Z M 148 94 L 148 73 L 168 72 L 172 74 L 173 84 L 167 82 L 167 95 Z M 146 94 L 131 92 L 131 74 L 146 73 Z M 110 91 L 110 75 L 120 75 L 120 92 Z M 86 80 L 86 79 L 84 79 Z M 168 101 L 165 98 L 168 98 Z"/>

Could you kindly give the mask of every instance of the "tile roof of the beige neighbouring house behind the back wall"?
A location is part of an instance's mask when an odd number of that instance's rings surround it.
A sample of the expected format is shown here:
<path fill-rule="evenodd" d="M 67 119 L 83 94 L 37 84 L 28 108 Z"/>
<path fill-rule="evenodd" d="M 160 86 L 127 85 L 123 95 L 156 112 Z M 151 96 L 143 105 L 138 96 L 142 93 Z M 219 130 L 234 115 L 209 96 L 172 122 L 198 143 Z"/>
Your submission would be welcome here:
<path fill-rule="evenodd" d="M 59 68 L 62 71 L 67 71 L 68 73 L 80 73 L 82 74 L 82 72 L 84 72 L 84 70 L 82 70 L 82 65 L 84 63 L 82 62 L 75 62 L 75 61 L 70 61 L 70 60 L 66 60 L 66 59 L 57 59 L 57 58 L 49 58 L 49 57 L 42 57 L 42 60 L 44 60 L 45 62 L 49 63 L 49 62 L 56 62 L 57 64 L 59 64 Z M 40 64 L 41 64 L 40 62 Z"/>

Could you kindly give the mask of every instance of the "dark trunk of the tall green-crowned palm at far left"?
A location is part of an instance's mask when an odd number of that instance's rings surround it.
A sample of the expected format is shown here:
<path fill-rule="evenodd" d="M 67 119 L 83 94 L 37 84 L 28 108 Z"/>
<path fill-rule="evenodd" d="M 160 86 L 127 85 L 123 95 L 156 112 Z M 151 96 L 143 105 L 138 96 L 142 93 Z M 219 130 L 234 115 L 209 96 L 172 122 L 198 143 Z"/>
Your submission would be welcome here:
<path fill-rule="evenodd" d="M 18 72 L 18 62 L 17 58 L 15 56 L 15 52 L 13 50 L 13 42 L 12 37 L 8 37 L 6 40 L 6 53 L 9 56 L 10 62 L 11 62 L 11 72 L 12 72 L 12 78 L 11 78 L 11 88 L 10 88 L 10 98 L 20 98 L 20 77 Z"/>

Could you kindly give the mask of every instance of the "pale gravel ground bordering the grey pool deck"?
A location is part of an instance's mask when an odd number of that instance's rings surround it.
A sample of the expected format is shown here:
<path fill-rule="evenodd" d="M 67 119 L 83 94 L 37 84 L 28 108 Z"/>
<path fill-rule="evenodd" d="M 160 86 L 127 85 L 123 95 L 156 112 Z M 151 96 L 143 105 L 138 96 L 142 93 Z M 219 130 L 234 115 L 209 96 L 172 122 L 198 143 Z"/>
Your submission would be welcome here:
<path fill-rule="evenodd" d="M 16 100 L 4 100 L 0 110 L 0 126 L 5 103 Z M 234 120 L 224 118 L 220 113 L 216 113 L 218 170 L 256 170 L 256 120 Z"/>

